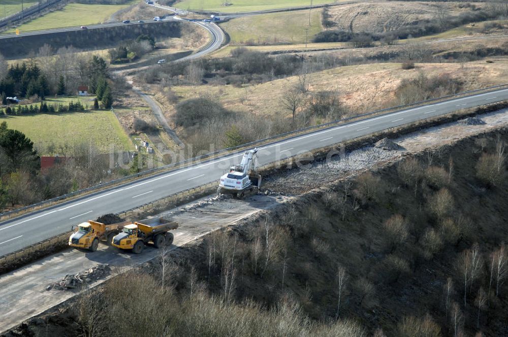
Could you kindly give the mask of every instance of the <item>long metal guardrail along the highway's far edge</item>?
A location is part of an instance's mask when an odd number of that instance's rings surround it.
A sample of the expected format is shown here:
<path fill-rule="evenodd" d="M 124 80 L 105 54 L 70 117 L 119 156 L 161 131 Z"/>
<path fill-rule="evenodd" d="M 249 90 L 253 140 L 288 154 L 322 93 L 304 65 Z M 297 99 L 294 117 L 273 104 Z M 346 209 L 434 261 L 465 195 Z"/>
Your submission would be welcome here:
<path fill-rule="evenodd" d="M 201 156 L 198 156 L 198 157 L 188 158 L 188 159 L 185 159 L 185 160 L 181 160 L 181 161 L 173 163 L 173 164 L 164 165 L 164 166 L 161 166 L 161 167 L 151 168 L 150 170 L 143 171 L 143 172 L 137 173 L 135 175 L 127 176 L 127 177 L 120 178 L 120 179 L 111 180 L 109 182 L 102 183 L 102 184 L 99 184 L 99 185 L 96 185 L 96 186 L 91 186 L 91 187 L 88 187 L 88 188 L 85 188 L 85 189 L 81 189 L 81 190 L 78 190 L 78 191 L 75 191 L 75 192 L 72 192 L 72 193 L 68 193 L 68 194 L 64 194 L 64 195 L 61 195 L 61 196 L 57 196 L 57 197 L 52 198 L 52 199 L 44 200 L 44 201 L 41 201 L 40 203 L 36 203 L 36 204 L 33 204 L 33 205 L 25 206 L 25 207 L 22 207 L 22 208 L 19 208 L 19 209 L 16 209 L 16 210 L 12 210 L 10 212 L 1 213 L 0 214 L 0 221 L 6 220 L 6 219 L 10 219 L 12 217 L 15 217 L 18 214 L 21 214 L 21 213 L 25 212 L 25 211 L 30 211 L 30 210 L 31 211 L 35 211 L 36 209 L 42 209 L 43 207 L 52 206 L 52 204 L 56 204 L 56 203 L 58 203 L 58 201 L 62 201 L 62 200 L 65 200 L 65 199 L 68 199 L 68 198 L 71 198 L 71 197 L 74 197 L 74 196 L 78 196 L 80 194 L 85 194 L 85 193 L 89 193 L 89 192 L 92 192 L 92 191 L 99 191 L 99 190 L 101 190 L 101 189 L 103 189 L 105 187 L 112 187 L 113 185 L 121 184 L 121 183 L 127 182 L 127 181 L 132 180 L 132 179 L 138 179 L 138 178 L 141 178 L 141 177 L 146 177 L 146 176 L 154 175 L 154 174 L 157 174 L 157 173 L 163 173 L 163 172 L 166 172 L 166 171 L 171 171 L 171 170 L 174 170 L 174 169 L 176 169 L 176 168 L 178 168 L 178 167 L 180 167 L 182 165 L 195 164 L 195 163 L 201 162 L 203 160 L 209 160 L 209 159 L 215 158 L 215 157 L 217 157 L 219 155 L 232 154 L 235 151 L 238 151 L 238 150 L 241 150 L 241 149 L 244 149 L 244 148 L 261 146 L 261 145 L 269 145 L 269 144 L 271 144 L 271 142 L 273 142 L 275 140 L 278 140 L 278 139 L 291 138 L 291 137 L 298 136 L 299 134 L 302 134 L 302 133 L 310 133 L 310 132 L 312 132 L 314 130 L 326 129 L 326 128 L 333 127 L 333 126 L 336 126 L 336 125 L 346 124 L 346 123 L 352 122 L 354 120 L 365 119 L 366 117 L 371 117 L 371 116 L 376 116 L 376 115 L 383 115 L 383 114 L 387 114 L 387 113 L 390 113 L 390 112 L 393 112 L 393 111 L 397 111 L 397 110 L 401 110 L 401 109 L 406 109 L 406 108 L 410 108 L 410 107 L 418 107 L 418 106 L 426 105 L 426 104 L 429 104 L 429 103 L 432 103 L 432 102 L 437 102 L 439 100 L 450 100 L 452 98 L 459 98 L 461 96 L 468 95 L 468 94 L 471 94 L 471 93 L 479 93 L 479 92 L 483 92 L 483 91 L 486 91 L 486 92 L 495 91 L 495 90 L 498 90 L 498 89 L 503 88 L 503 87 L 508 88 L 508 83 L 507 84 L 496 85 L 496 86 L 492 86 L 492 87 L 487 87 L 487 88 L 483 88 L 483 89 L 469 90 L 469 91 L 460 92 L 460 93 L 453 94 L 453 95 L 447 95 L 447 96 L 442 96 L 442 97 L 431 98 L 431 99 L 428 99 L 428 100 L 424 100 L 422 102 L 417 102 L 417 103 L 406 104 L 406 105 L 392 107 L 392 108 L 386 108 L 386 109 L 376 110 L 376 111 L 365 113 L 365 114 L 361 114 L 361 115 L 358 115 L 358 116 L 343 118 L 343 119 L 335 120 L 335 121 L 324 123 L 324 124 L 320 124 L 320 125 L 309 126 L 309 127 L 301 128 L 301 129 L 298 129 L 298 130 L 294 130 L 294 131 L 289 131 L 289 132 L 277 134 L 275 136 L 272 136 L 272 137 L 269 137 L 269 138 L 265 138 L 263 140 L 258 140 L 258 141 L 255 141 L 255 142 L 250 142 L 250 143 L 242 144 L 242 145 L 235 146 L 235 147 L 232 147 L 232 148 L 218 150 L 218 151 L 215 151 L 215 152 L 212 152 L 212 153 L 209 153 L 209 154 L 205 154 L 205 155 L 201 155 Z"/>

